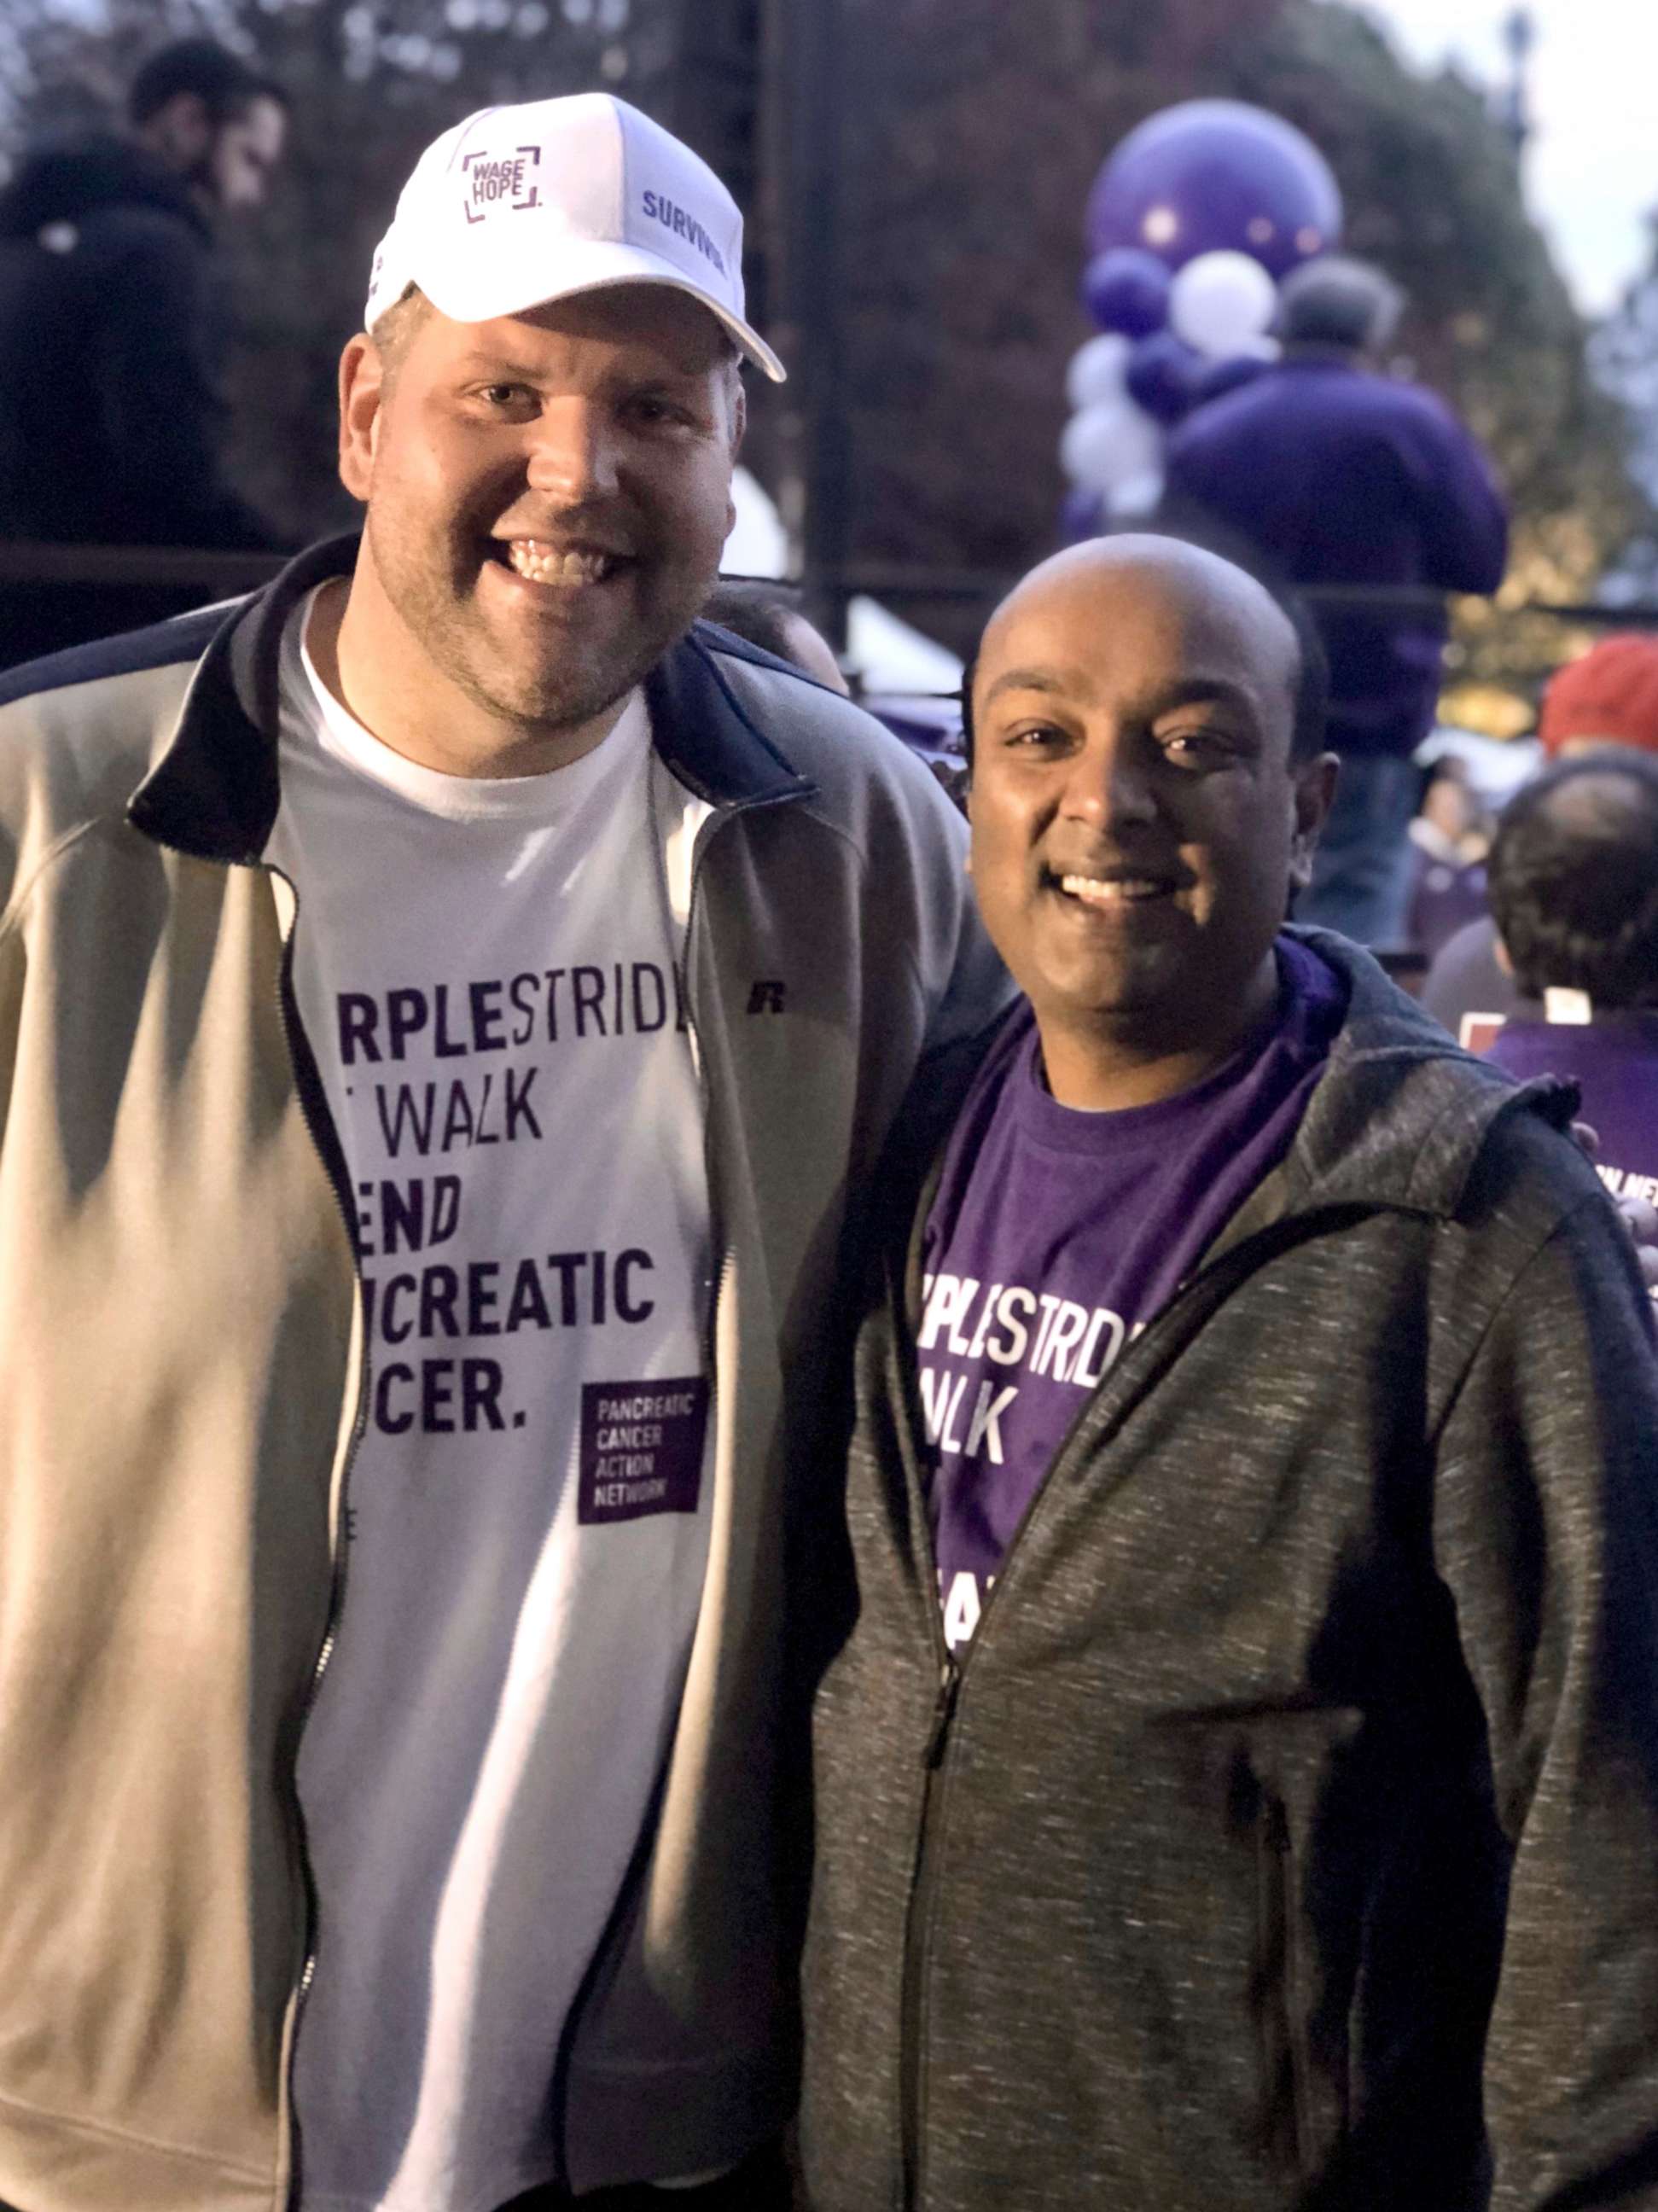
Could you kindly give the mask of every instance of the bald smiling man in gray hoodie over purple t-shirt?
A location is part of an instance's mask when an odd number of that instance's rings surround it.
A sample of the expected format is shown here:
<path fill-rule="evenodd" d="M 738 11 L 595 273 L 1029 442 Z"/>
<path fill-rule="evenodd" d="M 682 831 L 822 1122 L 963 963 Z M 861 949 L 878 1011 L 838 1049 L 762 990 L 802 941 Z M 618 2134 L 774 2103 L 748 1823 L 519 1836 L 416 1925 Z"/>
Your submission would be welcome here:
<path fill-rule="evenodd" d="M 814 2212 L 1658 2201 L 1651 1325 L 1570 1093 L 1284 927 L 1320 728 L 1161 540 L 984 637 L 1024 998 L 875 1210 Z"/>

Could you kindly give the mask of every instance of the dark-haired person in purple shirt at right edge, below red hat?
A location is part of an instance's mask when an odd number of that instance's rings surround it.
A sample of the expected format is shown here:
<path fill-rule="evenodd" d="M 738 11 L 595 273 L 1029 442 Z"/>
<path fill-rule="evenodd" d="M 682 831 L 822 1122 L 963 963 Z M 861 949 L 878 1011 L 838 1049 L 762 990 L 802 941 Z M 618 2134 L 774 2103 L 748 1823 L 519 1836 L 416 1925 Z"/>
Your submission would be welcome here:
<path fill-rule="evenodd" d="M 1521 1004 L 1486 1057 L 1581 1091 L 1601 1179 L 1658 1201 L 1658 759 L 1585 752 L 1505 807 L 1490 911 Z"/>

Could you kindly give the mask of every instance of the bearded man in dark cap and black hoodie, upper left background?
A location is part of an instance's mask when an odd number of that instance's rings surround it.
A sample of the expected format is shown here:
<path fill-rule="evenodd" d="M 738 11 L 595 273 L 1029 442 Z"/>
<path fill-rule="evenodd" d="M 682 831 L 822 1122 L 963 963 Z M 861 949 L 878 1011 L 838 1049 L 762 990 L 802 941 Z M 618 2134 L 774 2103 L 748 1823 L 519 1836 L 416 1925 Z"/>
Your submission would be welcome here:
<path fill-rule="evenodd" d="M 31 153 L 0 192 L 0 538 L 270 549 L 219 445 L 221 217 L 256 208 L 287 93 L 210 40 L 150 55 L 130 133 Z M 0 584 L 0 666 L 199 606 L 146 584 Z"/>

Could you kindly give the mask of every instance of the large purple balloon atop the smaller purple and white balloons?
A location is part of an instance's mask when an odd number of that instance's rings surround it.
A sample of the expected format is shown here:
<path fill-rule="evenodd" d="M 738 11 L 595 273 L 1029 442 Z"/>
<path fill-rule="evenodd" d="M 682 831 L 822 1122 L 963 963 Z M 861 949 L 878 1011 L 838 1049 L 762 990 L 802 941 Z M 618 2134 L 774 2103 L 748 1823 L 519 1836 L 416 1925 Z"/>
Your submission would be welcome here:
<path fill-rule="evenodd" d="M 1273 276 L 1342 234 L 1324 155 L 1282 115 L 1242 100 L 1185 100 L 1123 139 L 1088 195 L 1094 254 L 1136 248 L 1172 270 L 1196 254 L 1253 254 Z"/>

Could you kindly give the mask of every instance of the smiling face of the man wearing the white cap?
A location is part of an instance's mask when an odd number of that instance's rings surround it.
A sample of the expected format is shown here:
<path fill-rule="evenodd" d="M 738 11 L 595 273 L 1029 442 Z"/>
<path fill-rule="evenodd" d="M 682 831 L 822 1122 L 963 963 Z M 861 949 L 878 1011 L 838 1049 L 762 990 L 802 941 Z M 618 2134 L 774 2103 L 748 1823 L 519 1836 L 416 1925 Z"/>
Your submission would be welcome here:
<path fill-rule="evenodd" d="M 705 307 L 619 285 L 493 323 L 427 307 L 340 367 L 340 476 L 367 529 L 347 703 L 460 774 L 586 750 L 685 633 L 732 524 L 743 398 Z"/>

